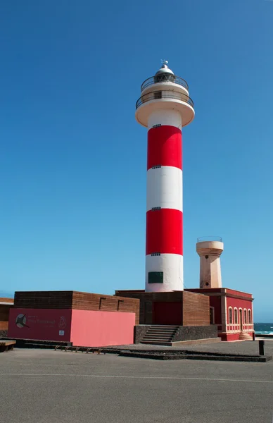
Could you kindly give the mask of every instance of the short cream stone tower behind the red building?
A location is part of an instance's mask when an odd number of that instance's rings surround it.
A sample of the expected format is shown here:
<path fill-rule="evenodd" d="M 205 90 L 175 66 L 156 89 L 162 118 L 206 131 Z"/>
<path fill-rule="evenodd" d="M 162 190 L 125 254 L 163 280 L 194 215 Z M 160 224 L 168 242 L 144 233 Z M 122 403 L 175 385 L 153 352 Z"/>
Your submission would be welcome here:
<path fill-rule="evenodd" d="M 222 288 L 220 255 L 224 250 L 222 238 L 198 238 L 196 251 L 200 256 L 200 288 Z"/>

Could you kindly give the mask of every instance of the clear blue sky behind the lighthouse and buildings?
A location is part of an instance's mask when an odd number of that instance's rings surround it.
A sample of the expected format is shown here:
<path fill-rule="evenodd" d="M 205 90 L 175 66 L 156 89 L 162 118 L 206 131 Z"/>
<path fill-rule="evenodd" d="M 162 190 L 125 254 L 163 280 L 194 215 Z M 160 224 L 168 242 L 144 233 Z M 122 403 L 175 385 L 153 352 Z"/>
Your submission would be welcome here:
<path fill-rule="evenodd" d="M 140 85 L 167 59 L 189 83 L 184 283 L 221 235 L 223 285 L 273 321 L 273 1 L 0 5 L 0 290 L 144 288 Z"/>

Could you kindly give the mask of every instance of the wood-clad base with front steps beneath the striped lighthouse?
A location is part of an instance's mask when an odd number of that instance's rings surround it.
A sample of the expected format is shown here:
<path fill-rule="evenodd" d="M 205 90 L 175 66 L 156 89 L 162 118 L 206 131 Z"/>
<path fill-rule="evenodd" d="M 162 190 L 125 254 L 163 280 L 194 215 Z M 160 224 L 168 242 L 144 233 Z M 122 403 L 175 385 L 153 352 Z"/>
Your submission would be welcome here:
<path fill-rule="evenodd" d="M 185 290 L 163 293 L 118 290 L 115 295 L 139 300 L 134 343 L 173 346 L 186 341 L 218 340 L 217 325 L 210 324 L 208 295 Z"/>

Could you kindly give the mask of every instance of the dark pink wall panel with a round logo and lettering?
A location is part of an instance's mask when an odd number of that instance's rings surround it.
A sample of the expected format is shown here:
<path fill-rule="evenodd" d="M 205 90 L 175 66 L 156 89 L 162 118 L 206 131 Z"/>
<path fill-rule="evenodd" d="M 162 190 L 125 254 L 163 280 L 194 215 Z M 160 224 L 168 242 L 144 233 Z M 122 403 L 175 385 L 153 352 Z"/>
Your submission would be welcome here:
<path fill-rule="evenodd" d="M 10 310 L 8 338 L 70 341 L 71 309 Z"/>

